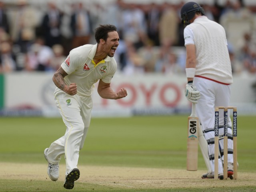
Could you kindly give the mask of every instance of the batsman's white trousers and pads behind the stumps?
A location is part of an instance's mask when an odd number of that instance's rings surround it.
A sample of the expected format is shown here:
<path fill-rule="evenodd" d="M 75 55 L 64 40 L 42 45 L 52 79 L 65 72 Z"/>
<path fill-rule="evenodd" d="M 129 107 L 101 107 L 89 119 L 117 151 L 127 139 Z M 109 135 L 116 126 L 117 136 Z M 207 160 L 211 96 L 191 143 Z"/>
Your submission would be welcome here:
<path fill-rule="evenodd" d="M 215 107 L 230 106 L 231 85 L 224 85 L 212 80 L 195 77 L 194 86 L 201 93 L 201 98 L 196 104 L 196 114 L 200 120 L 204 137 L 208 142 L 208 155 L 214 157 L 214 144 L 210 144 L 214 140 L 214 119 Z M 224 110 L 219 112 L 219 136 L 224 133 Z M 228 111 L 228 126 L 232 126 L 230 112 Z M 232 134 L 232 129 L 228 128 L 228 134 Z M 223 138 L 223 137 L 222 137 Z M 223 150 L 223 139 L 219 140 L 221 150 Z M 233 140 L 228 139 L 228 149 L 233 150 Z M 222 156 L 223 158 L 223 156 Z M 223 172 L 221 159 L 218 159 L 218 174 Z M 212 165 L 212 173 L 214 173 L 214 160 L 210 160 Z M 233 163 L 233 154 L 228 154 L 228 162 Z"/>

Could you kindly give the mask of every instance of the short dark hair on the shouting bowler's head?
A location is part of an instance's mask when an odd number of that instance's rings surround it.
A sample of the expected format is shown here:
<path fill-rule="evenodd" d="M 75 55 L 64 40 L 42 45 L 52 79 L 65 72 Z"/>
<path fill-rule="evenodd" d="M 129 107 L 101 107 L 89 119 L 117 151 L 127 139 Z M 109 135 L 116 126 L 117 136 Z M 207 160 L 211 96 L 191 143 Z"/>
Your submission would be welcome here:
<path fill-rule="evenodd" d="M 99 25 L 95 30 L 95 40 L 97 43 L 100 42 L 100 39 L 104 39 L 105 41 L 108 38 L 108 32 L 116 31 L 116 26 L 106 24 L 106 25 Z"/>

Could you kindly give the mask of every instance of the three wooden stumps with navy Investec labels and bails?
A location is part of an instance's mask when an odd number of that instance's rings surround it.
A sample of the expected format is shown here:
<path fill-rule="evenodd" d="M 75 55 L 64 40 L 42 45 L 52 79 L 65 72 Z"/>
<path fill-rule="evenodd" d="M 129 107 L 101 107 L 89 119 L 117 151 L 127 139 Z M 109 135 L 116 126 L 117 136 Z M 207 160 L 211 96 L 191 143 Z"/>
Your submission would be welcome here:
<path fill-rule="evenodd" d="M 224 109 L 224 160 L 223 175 L 228 178 L 228 110 L 233 110 L 233 168 L 234 175 L 230 179 L 237 179 L 237 109 L 236 107 L 220 106 L 215 107 L 215 126 L 214 126 L 214 179 L 218 179 L 218 158 L 219 158 L 219 109 Z"/>

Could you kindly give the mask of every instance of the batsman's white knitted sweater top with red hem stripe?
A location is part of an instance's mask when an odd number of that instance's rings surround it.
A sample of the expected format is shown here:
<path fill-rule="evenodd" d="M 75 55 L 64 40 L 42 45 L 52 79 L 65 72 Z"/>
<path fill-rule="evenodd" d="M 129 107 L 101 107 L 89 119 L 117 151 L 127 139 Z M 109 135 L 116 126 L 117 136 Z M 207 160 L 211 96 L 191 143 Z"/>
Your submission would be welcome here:
<path fill-rule="evenodd" d="M 232 84 L 232 70 L 224 28 L 209 20 L 198 17 L 184 29 L 185 46 L 196 46 L 195 76 L 222 84 Z"/>

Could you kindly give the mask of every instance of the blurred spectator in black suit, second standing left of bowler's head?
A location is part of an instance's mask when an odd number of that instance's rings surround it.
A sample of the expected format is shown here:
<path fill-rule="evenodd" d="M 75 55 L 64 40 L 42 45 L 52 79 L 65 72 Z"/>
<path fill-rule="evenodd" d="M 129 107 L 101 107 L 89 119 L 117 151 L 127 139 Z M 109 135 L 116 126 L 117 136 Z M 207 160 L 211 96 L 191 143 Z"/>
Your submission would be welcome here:
<path fill-rule="evenodd" d="M 62 12 L 58 10 L 56 4 L 48 2 L 48 10 L 43 16 L 42 30 L 45 44 L 52 47 L 54 44 L 61 44 L 60 26 L 62 22 Z"/>

